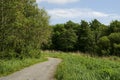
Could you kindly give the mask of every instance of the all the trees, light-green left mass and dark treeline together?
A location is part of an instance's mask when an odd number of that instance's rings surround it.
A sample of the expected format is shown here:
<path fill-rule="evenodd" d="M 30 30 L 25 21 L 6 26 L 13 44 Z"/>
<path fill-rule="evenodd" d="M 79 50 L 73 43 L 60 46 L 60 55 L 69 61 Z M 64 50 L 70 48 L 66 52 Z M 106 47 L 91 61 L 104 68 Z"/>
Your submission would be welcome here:
<path fill-rule="evenodd" d="M 120 21 L 50 25 L 49 20 L 35 0 L 0 1 L 0 58 L 37 57 L 37 50 L 120 56 Z"/>

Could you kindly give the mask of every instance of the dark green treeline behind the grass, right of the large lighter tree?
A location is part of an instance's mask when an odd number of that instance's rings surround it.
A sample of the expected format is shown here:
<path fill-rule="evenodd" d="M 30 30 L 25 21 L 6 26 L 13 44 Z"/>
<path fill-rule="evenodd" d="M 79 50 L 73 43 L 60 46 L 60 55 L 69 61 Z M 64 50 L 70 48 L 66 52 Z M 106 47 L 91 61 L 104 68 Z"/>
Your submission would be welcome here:
<path fill-rule="evenodd" d="M 80 24 L 68 21 L 54 25 L 49 49 L 120 56 L 120 21 L 104 25 L 94 19 L 89 23 L 81 20 Z"/>

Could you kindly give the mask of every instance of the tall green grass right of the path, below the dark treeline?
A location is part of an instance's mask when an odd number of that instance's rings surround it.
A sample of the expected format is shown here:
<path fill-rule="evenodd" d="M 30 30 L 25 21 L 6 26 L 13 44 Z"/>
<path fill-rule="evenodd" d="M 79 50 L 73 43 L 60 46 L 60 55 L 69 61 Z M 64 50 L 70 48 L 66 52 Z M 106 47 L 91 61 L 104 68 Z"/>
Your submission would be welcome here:
<path fill-rule="evenodd" d="M 64 53 L 47 55 L 63 60 L 56 71 L 57 80 L 120 80 L 118 61 Z"/>

